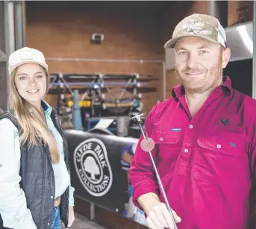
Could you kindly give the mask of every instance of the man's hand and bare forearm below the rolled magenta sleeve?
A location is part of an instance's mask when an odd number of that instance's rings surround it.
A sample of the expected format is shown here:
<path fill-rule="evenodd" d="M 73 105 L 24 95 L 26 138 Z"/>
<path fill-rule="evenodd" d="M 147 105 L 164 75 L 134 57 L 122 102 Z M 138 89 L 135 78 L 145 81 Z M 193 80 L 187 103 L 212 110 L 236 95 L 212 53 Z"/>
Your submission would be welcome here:
<path fill-rule="evenodd" d="M 155 193 L 149 192 L 141 195 L 137 201 L 147 215 L 146 222 L 149 228 L 174 228 L 171 213 L 169 213 L 166 204 L 160 202 L 160 199 Z M 172 210 L 172 214 L 176 223 L 181 222 L 181 218 L 177 216 L 174 210 Z"/>

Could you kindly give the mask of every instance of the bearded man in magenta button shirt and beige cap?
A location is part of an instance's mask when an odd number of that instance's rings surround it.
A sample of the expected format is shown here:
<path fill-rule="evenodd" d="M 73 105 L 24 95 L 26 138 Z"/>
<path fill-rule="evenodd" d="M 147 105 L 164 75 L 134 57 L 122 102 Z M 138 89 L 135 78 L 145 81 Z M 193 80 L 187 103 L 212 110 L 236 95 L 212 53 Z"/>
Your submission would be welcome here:
<path fill-rule="evenodd" d="M 152 108 L 145 127 L 178 229 L 246 228 L 256 101 L 222 75 L 231 56 L 225 30 L 213 16 L 193 14 L 178 23 L 164 48 L 175 50 L 180 84 Z M 134 204 L 149 228 L 174 228 L 142 139 L 129 172 Z"/>

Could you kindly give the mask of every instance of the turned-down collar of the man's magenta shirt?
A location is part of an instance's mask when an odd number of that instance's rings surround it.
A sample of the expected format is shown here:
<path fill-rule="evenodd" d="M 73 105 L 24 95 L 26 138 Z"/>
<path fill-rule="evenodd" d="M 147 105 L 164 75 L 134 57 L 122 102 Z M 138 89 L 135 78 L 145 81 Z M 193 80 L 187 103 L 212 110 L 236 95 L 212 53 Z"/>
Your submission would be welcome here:
<path fill-rule="evenodd" d="M 233 97 L 233 89 L 231 85 L 231 79 L 228 76 L 223 76 L 223 83 L 219 86 L 222 89 L 225 90 L 225 92 L 228 92 L 228 95 Z M 185 94 L 185 89 L 182 84 L 178 84 L 176 87 L 172 89 L 172 97 L 176 100 L 178 98 L 181 98 L 182 95 Z"/>

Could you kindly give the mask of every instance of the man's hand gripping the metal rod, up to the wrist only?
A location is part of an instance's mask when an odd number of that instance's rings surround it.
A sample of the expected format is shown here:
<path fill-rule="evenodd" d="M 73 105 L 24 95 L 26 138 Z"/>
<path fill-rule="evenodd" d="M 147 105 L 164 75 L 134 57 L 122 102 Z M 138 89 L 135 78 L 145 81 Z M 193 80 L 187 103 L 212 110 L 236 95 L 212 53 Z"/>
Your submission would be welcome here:
<path fill-rule="evenodd" d="M 172 214 L 176 223 L 181 222 L 181 218 L 177 216 L 174 210 L 172 210 Z M 169 213 L 169 210 L 164 203 L 159 203 L 152 207 L 152 210 L 149 211 L 146 222 L 148 227 L 151 229 L 174 228 L 172 215 Z"/>

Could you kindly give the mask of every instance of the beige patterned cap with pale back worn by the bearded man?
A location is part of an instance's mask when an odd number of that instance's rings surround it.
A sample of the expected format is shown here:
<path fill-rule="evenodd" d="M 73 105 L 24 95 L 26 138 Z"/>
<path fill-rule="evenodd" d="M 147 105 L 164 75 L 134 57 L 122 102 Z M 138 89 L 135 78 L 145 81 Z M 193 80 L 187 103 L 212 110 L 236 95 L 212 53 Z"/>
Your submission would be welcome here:
<path fill-rule="evenodd" d="M 175 27 L 172 39 L 168 40 L 163 47 L 174 48 L 176 43 L 184 37 L 202 37 L 227 48 L 225 30 L 219 20 L 213 16 L 194 13 L 185 17 Z"/>

